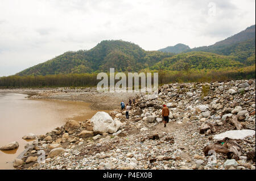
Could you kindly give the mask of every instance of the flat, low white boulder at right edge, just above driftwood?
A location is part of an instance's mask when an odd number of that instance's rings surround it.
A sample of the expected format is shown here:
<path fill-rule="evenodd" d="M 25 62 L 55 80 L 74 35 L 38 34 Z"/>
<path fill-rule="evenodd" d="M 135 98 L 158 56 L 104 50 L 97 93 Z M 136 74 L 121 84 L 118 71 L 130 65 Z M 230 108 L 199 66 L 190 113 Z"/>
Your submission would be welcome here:
<path fill-rule="evenodd" d="M 221 134 L 216 134 L 213 139 L 214 140 L 223 140 L 225 137 L 228 137 L 230 139 L 244 139 L 247 136 L 254 136 L 255 131 L 251 129 L 243 129 L 243 130 L 231 130 L 231 131 L 226 131 Z"/>

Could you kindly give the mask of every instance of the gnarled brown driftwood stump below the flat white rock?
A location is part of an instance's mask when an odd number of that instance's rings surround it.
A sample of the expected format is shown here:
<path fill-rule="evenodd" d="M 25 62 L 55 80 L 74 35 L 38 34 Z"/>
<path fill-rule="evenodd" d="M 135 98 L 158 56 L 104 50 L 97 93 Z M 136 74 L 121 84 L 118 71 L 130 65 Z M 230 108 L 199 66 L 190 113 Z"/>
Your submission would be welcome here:
<path fill-rule="evenodd" d="M 204 148 L 204 155 L 207 156 L 210 154 L 210 150 L 214 150 L 216 153 L 223 153 L 228 156 L 228 159 L 236 159 L 238 160 L 239 157 L 242 155 L 242 148 L 240 145 L 237 144 L 236 141 L 230 140 L 229 138 L 225 138 L 224 140 L 218 141 L 224 142 L 223 145 L 208 145 Z"/>

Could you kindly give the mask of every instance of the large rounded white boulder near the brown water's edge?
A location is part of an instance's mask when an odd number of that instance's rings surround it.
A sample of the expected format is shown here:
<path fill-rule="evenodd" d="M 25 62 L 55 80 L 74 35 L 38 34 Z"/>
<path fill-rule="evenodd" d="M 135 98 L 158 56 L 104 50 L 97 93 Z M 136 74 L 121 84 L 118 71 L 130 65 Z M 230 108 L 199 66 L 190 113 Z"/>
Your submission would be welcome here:
<path fill-rule="evenodd" d="M 98 133 L 115 133 L 122 123 L 117 119 L 112 119 L 106 112 L 97 112 L 90 122 L 93 124 L 93 131 Z"/>

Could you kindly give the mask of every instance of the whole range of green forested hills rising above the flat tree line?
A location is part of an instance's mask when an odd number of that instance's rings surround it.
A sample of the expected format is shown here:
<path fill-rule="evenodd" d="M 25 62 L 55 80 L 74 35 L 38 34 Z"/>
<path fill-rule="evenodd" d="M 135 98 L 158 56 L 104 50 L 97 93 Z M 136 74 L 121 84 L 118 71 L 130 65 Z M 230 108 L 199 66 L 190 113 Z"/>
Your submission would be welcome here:
<path fill-rule="evenodd" d="M 173 53 L 168 52 L 168 49 L 172 49 Z M 187 50 L 175 53 L 181 49 Z M 127 41 L 105 40 L 90 50 L 66 52 L 16 75 L 97 73 L 109 71 L 109 68 L 122 72 L 182 70 L 184 65 L 196 70 L 216 70 L 255 65 L 255 26 L 209 47 L 189 49 L 187 45 L 177 44 L 166 50 L 146 51 Z"/>

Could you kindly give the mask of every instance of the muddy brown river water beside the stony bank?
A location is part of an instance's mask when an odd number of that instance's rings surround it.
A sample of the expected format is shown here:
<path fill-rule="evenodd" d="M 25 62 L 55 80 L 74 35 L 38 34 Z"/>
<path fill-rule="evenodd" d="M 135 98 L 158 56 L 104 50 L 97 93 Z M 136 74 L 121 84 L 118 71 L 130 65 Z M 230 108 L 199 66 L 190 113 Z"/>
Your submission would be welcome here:
<path fill-rule="evenodd" d="M 13 169 L 13 161 L 28 143 L 25 134 L 46 134 L 69 119 L 84 121 L 97 111 L 84 102 L 32 100 L 21 92 L 0 92 L 0 147 L 18 141 L 19 148 L 0 150 L 0 169 Z"/>

